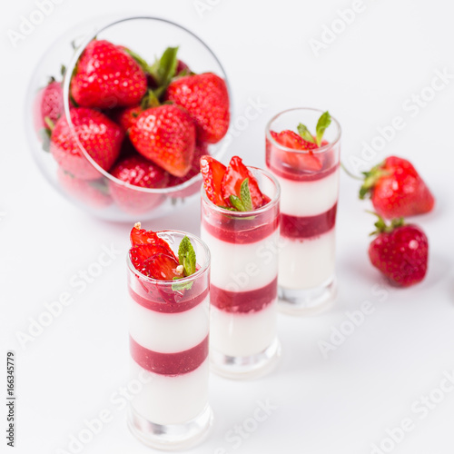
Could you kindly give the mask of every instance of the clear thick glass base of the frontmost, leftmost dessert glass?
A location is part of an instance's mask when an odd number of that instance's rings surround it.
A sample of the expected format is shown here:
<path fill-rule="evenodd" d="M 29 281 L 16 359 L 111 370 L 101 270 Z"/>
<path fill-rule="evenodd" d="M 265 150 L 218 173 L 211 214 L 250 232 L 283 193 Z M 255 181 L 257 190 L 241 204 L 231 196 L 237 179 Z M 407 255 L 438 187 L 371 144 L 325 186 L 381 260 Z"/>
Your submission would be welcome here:
<path fill-rule="evenodd" d="M 190 449 L 202 442 L 211 426 L 212 409 L 208 405 L 197 418 L 184 424 L 168 425 L 155 424 L 144 419 L 131 405 L 129 407 L 128 427 L 133 436 L 155 449 Z"/>

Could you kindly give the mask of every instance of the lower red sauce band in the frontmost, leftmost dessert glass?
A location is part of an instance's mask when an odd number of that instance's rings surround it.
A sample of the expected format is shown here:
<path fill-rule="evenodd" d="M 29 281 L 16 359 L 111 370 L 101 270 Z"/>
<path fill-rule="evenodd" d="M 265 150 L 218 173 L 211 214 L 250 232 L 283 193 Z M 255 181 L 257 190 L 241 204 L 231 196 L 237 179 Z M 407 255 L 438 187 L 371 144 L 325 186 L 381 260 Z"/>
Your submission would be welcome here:
<path fill-rule="evenodd" d="M 196 370 L 208 356 L 208 336 L 192 349 L 178 353 L 158 353 L 145 349 L 130 336 L 131 356 L 145 370 L 160 375 L 182 375 Z"/>

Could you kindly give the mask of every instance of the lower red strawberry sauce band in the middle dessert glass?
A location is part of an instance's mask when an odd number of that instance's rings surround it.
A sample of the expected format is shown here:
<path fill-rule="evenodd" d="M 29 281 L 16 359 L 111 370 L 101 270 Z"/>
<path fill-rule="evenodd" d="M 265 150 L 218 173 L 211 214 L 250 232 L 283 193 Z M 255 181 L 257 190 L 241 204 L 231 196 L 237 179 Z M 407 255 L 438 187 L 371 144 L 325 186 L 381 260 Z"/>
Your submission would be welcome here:
<path fill-rule="evenodd" d="M 274 279 L 261 289 L 252 291 L 226 291 L 211 286 L 211 302 L 220 311 L 249 313 L 265 309 L 277 297 L 278 279 Z"/>

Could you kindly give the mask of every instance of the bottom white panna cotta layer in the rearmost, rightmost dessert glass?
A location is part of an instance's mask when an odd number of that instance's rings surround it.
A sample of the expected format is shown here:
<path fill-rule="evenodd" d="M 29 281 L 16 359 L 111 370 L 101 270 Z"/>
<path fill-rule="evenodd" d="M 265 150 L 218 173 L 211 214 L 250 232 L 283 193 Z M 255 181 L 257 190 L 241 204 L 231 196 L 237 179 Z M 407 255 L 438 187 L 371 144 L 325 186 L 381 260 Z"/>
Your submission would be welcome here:
<path fill-rule="evenodd" d="M 317 237 L 280 240 L 279 284 L 286 289 L 311 289 L 328 281 L 336 260 L 336 232 Z"/>

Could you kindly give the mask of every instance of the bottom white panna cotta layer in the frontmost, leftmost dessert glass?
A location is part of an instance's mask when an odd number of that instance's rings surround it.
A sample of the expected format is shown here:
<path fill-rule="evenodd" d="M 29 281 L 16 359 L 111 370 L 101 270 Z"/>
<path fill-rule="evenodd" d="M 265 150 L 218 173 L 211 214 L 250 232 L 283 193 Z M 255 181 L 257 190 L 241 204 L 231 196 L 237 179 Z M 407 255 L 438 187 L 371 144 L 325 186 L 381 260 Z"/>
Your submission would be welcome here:
<path fill-rule="evenodd" d="M 131 380 L 141 383 L 131 405 L 155 424 L 183 424 L 199 416 L 208 404 L 208 358 L 192 372 L 177 376 L 144 370 L 131 360 Z"/>

